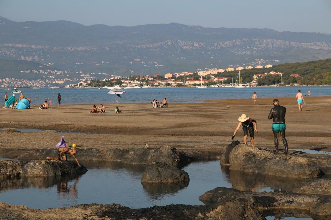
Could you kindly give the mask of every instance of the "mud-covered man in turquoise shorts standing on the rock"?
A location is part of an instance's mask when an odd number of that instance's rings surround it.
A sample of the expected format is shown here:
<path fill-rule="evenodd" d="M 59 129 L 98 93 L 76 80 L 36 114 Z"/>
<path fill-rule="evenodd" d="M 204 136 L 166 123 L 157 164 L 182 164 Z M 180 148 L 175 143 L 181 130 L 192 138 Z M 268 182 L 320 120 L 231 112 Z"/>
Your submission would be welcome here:
<path fill-rule="evenodd" d="M 283 144 L 285 146 L 285 154 L 287 154 L 288 148 L 287 148 L 287 140 L 285 138 L 285 114 L 286 114 L 286 108 L 284 106 L 279 105 L 278 99 L 274 99 L 273 101 L 273 107 L 270 110 L 268 119 L 273 119 L 272 123 L 272 132 L 275 138 L 275 148 L 276 148 L 276 153 L 278 153 L 278 133 L 280 132 L 281 138 L 283 140 Z"/>

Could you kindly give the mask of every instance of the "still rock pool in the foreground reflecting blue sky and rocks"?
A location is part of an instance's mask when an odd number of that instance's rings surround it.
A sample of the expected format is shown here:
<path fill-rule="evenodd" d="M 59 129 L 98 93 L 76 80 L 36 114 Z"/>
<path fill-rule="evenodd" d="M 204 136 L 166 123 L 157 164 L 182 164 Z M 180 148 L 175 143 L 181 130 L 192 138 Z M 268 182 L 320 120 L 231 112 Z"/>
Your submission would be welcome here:
<path fill-rule="evenodd" d="M 215 187 L 279 191 L 291 190 L 307 181 L 230 171 L 221 167 L 219 161 L 202 161 L 183 167 L 190 176 L 189 184 L 141 183 L 146 165 L 81 163 L 88 172 L 80 176 L 5 179 L 0 182 L 0 201 L 40 209 L 83 203 L 118 203 L 131 208 L 171 203 L 198 205 L 203 204 L 198 197 Z"/>

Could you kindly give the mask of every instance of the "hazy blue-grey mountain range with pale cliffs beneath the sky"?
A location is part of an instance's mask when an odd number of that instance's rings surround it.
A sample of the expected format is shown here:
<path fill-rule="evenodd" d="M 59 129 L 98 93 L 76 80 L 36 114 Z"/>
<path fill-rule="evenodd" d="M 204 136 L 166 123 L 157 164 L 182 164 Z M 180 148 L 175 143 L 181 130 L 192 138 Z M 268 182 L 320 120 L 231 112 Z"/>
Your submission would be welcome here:
<path fill-rule="evenodd" d="M 50 63 L 71 72 L 164 74 L 330 57 L 331 34 L 179 23 L 85 26 L 0 17 L 0 59 Z"/>

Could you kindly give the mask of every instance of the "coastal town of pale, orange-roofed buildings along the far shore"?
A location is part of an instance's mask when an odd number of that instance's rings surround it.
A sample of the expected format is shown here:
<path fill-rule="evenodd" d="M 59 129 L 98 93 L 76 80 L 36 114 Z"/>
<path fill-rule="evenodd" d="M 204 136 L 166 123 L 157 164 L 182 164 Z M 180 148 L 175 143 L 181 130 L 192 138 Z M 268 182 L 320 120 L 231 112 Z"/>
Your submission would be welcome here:
<path fill-rule="evenodd" d="M 271 64 L 265 66 L 238 66 L 236 68 L 228 67 L 226 69 L 205 69 L 197 72 L 182 71 L 179 73 L 165 73 L 145 75 L 145 76 L 116 76 L 107 73 L 83 73 L 83 71 L 75 72 L 77 77 L 71 78 L 70 71 L 56 71 L 56 70 L 22 70 L 22 73 L 39 73 L 43 74 L 42 79 L 27 80 L 5 78 L 0 79 L 0 88 L 83 88 L 83 87 L 107 87 L 112 85 L 121 85 L 122 87 L 190 87 L 197 85 L 213 86 L 233 84 L 236 79 L 226 76 L 226 73 L 233 71 L 241 71 L 244 69 L 261 69 L 261 73 L 255 74 L 253 80 L 250 82 L 241 82 L 255 87 L 258 85 L 260 77 L 278 76 L 282 77 L 283 72 L 268 72 L 267 69 L 272 67 Z M 291 74 L 292 77 L 301 77 L 298 74 Z M 62 78 L 63 77 L 63 78 Z M 99 79 L 99 80 L 97 80 Z M 230 82 L 231 80 L 231 82 Z M 235 80 L 235 82 L 233 82 Z M 238 84 L 238 83 L 237 83 Z"/>

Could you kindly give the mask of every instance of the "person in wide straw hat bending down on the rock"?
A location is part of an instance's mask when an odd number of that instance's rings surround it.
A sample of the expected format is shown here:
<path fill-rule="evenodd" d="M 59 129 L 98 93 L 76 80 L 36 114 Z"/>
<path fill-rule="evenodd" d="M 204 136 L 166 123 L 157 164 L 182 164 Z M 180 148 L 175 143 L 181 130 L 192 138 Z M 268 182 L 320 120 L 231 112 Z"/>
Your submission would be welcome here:
<path fill-rule="evenodd" d="M 247 135 L 249 132 L 249 135 L 251 136 L 251 145 L 254 146 L 254 128 L 255 128 L 255 131 L 257 133 L 259 133 L 256 120 L 252 119 L 251 117 L 246 116 L 246 114 L 242 114 L 238 118 L 238 121 L 239 121 L 239 124 L 238 124 L 237 128 L 234 130 L 232 140 L 233 140 L 234 136 L 236 136 L 236 133 L 239 130 L 240 126 L 242 126 L 243 131 L 244 131 L 244 143 L 247 144 Z"/>

